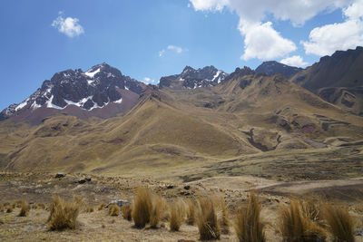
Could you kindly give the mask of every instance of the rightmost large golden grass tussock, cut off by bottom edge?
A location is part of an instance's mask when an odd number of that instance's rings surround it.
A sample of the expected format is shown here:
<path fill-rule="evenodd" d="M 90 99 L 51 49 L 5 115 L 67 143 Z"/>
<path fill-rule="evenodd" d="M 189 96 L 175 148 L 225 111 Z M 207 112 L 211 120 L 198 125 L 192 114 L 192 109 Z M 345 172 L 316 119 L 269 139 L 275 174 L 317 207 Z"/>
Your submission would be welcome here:
<path fill-rule="evenodd" d="M 328 229 L 333 236 L 333 241 L 354 242 L 354 220 L 349 215 L 348 208 L 343 206 L 328 205 L 325 216 Z"/>

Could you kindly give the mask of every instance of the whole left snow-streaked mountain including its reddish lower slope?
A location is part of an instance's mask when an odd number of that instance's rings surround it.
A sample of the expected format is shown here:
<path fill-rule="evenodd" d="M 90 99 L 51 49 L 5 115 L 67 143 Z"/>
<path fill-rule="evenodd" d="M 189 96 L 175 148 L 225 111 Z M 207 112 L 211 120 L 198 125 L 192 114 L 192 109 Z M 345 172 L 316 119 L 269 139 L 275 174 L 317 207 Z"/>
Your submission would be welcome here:
<path fill-rule="evenodd" d="M 20 104 L 12 104 L 0 113 L 0 120 L 39 123 L 55 113 L 77 117 L 109 118 L 132 108 L 145 84 L 101 63 L 87 72 L 81 69 L 55 73 L 42 87 Z"/>

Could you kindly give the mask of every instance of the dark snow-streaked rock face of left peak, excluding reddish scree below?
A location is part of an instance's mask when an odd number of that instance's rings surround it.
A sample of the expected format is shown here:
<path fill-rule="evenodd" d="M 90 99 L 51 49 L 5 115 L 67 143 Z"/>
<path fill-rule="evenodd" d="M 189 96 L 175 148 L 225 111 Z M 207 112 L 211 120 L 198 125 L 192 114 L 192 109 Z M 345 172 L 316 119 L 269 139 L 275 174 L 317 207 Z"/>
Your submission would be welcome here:
<path fill-rule="evenodd" d="M 2 111 L 0 120 L 18 116 L 24 111 L 29 115 L 41 108 L 59 111 L 70 106 L 82 111 L 102 109 L 109 103 L 124 102 L 122 90 L 139 95 L 144 87 L 142 82 L 124 76 L 107 63 L 94 65 L 84 73 L 81 69 L 66 70 L 55 73 L 51 80 L 45 80 L 42 87 L 24 102 L 12 104 Z"/>

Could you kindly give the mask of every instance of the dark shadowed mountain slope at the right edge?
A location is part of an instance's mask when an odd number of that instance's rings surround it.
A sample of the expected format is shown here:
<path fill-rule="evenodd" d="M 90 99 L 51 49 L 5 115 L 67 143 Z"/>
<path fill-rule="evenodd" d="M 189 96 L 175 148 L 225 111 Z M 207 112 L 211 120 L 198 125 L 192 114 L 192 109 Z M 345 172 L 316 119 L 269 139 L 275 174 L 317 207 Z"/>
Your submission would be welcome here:
<path fill-rule="evenodd" d="M 319 63 L 291 77 L 291 82 L 343 109 L 363 115 L 363 47 L 321 57 Z"/>

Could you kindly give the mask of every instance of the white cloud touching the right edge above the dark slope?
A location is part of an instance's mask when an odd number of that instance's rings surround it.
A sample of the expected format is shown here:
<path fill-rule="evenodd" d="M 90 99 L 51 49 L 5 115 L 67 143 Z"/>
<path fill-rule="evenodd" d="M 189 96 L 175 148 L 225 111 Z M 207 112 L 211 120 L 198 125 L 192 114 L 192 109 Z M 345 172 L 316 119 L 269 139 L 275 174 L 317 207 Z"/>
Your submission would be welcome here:
<path fill-rule="evenodd" d="M 314 28 L 309 41 L 301 42 L 305 53 L 330 55 L 337 50 L 348 50 L 363 44 L 363 0 L 343 9 L 343 23 L 327 24 Z"/>

